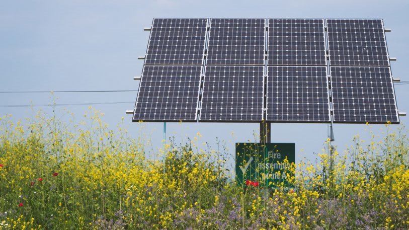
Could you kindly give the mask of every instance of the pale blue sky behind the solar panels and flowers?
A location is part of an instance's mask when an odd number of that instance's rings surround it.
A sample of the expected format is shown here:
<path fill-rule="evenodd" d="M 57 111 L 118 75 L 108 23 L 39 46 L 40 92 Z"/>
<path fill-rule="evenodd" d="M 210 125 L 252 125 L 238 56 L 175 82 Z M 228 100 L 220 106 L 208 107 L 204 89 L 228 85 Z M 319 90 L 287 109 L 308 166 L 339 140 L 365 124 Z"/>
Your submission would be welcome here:
<path fill-rule="evenodd" d="M 364 1 L 2 1 L 0 2 L 0 91 L 137 90 L 133 76 L 140 75 L 152 18 L 381 18 L 386 28 L 392 74 L 409 81 L 409 2 Z M 409 85 L 395 86 L 397 106 L 409 112 Z M 93 105 L 105 113 L 104 121 L 115 127 L 122 117 L 131 137 L 140 135 L 130 110 L 136 92 L 56 93 L 57 104 L 129 102 Z M 49 104 L 50 94 L 0 93 L 0 116 L 32 117 L 29 107 L 6 105 Z M 78 120 L 88 105 L 58 106 L 75 113 Z M 50 112 L 46 107 L 35 107 Z M 400 117 L 403 123 L 406 117 Z M 376 134 L 383 125 L 371 125 Z M 393 126 L 395 128 L 397 126 Z M 343 152 L 354 134 L 368 139 L 369 126 L 335 124 L 334 144 Z M 254 141 L 258 123 L 168 123 L 168 137 L 186 142 L 200 132 L 200 142 L 213 146 L 216 137 L 225 140 L 234 154 L 234 142 Z M 152 147 L 161 147 L 162 123 L 144 124 Z M 231 136 L 234 132 L 234 137 Z M 272 142 L 295 142 L 296 159 L 313 160 L 326 139 L 326 124 L 272 124 Z M 303 149 L 303 150 L 301 150 Z M 231 156 L 231 158 L 233 158 Z"/>

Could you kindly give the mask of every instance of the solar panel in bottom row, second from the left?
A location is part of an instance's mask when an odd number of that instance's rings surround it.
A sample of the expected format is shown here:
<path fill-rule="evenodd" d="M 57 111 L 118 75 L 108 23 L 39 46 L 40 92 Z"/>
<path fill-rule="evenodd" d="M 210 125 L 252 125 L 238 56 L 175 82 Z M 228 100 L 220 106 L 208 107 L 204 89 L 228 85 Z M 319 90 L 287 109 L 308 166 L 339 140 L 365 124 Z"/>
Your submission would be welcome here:
<path fill-rule="evenodd" d="M 264 66 L 206 66 L 199 121 L 263 119 Z"/>

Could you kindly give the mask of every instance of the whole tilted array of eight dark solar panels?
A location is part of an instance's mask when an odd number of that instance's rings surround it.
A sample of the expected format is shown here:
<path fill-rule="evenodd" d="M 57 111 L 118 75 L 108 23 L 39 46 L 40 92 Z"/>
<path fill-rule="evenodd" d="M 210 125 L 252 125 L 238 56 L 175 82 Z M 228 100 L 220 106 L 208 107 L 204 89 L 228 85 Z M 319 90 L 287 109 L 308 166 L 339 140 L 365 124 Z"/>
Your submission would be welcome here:
<path fill-rule="evenodd" d="M 381 19 L 153 19 L 133 121 L 399 123 Z"/>

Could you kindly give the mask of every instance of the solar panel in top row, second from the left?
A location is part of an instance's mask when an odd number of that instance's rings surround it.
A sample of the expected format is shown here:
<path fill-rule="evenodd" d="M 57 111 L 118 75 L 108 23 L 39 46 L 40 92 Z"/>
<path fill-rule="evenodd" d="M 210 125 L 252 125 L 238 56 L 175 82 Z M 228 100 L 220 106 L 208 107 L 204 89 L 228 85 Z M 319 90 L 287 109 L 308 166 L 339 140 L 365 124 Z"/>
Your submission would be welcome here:
<path fill-rule="evenodd" d="M 264 65 L 265 19 L 211 19 L 206 64 Z"/>

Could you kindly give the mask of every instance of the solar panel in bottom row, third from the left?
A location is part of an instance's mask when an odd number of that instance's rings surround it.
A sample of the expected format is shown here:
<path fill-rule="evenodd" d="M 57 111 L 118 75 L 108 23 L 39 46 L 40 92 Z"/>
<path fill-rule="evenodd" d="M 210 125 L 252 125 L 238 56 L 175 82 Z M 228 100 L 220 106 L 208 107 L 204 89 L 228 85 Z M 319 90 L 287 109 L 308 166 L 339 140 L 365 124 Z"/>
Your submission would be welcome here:
<path fill-rule="evenodd" d="M 267 121 L 329 122 L 326 66 L 268 66 Z"/>

